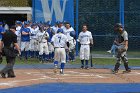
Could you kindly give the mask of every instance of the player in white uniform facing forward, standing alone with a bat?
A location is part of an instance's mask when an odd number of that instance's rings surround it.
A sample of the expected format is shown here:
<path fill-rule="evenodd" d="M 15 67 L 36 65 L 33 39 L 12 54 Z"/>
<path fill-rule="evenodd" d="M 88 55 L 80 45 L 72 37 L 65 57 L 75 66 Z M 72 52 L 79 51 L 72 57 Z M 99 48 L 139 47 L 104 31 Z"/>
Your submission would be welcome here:
<path fill-rule="evenodd" d="M 90 45 L 93 45 L 92 33 L 87 30 L 87 25 L 82 26 L 82 32 L 80 32 L 78 41 L 81 44 L 80 47 L 80 59 L 81 59 L 81 69 L 89 69 L 88 61 L 90 57 Z M 85 64 L 84 64 L 85 61 Z"/>

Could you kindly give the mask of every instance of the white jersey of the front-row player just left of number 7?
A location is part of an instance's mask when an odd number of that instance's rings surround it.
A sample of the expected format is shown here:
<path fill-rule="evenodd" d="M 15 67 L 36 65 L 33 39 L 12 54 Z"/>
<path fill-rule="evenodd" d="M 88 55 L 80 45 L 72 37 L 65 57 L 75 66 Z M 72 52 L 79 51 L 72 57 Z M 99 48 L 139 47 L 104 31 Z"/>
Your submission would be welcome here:
<path fill-rule="evenodd" d="M 42 43 L 47 42 L 46 38 L 49 38 L 48 32 L 45 32 L 45 31 L 41 32 L 41 31 L 39 31 L 37 33 L 37 39 L 38 39 L 39 42 L 42 42 Z"/>

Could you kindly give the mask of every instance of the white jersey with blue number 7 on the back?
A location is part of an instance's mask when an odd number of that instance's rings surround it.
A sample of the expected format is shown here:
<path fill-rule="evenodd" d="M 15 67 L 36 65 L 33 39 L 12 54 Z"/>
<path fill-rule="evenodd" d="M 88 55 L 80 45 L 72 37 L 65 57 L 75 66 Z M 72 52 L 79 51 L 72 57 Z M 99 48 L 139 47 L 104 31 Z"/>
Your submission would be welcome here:
<path fill-rule="evenodd" d="M 52 37 L 54 47 L 65 47 L 68 42 L 67 36 L 62 33 L 57 33 Z"/>

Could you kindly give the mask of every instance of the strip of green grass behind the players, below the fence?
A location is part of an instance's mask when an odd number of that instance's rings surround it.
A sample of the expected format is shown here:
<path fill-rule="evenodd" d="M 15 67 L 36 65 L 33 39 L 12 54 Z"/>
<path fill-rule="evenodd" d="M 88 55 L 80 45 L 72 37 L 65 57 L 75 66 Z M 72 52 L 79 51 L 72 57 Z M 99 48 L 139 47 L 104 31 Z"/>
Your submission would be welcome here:
<path fill-rule="evenodd" d="M 114 65 L 116 62 L 115 58 L 93 58 L 93 64 L 94 65 Z M 140 59 L 129 59 L 129 65 L 130 66 L 140 66 Z M 5 64 L 6 60 L 4 58 L 3 63 Z M 81 64 L 80 59 L 77 58 L 74 62 L 69 62 L 70 64 Z M 16 59 L 16 64 L 40 64 L 38 59 L 29 59 L 28 61 L 26 60 L 20 60 L 19 58 Z"/>

